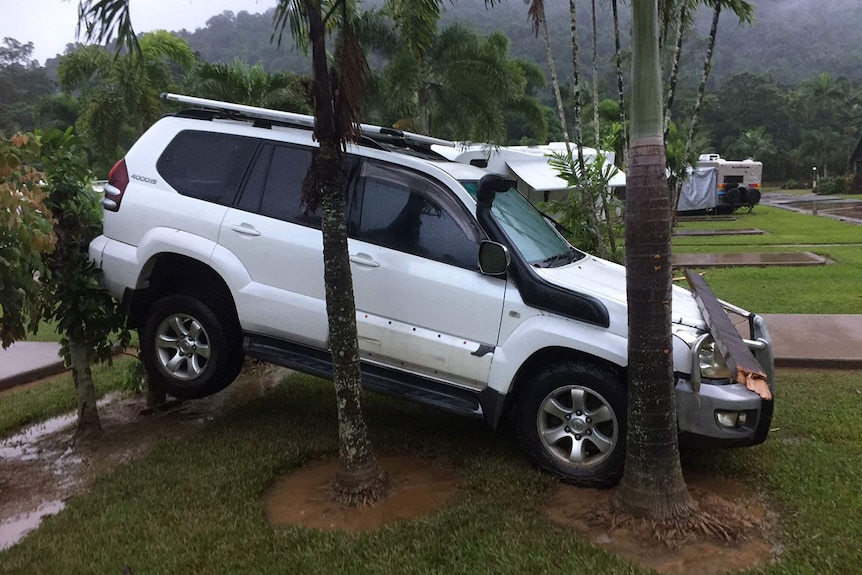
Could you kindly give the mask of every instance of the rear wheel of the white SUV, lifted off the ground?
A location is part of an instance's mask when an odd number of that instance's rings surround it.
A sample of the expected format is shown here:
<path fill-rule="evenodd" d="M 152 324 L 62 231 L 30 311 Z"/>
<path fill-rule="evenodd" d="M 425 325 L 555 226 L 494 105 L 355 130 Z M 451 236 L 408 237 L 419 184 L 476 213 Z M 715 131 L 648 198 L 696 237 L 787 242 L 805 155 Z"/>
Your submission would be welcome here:
<path fill-rule="evenodd" d="M 141 358 L 151 384 L 180 399 L 217 393 L 242 368 L 242 339 L 233 314 L 187 294 L 156 301 L 141 330 Z"/>

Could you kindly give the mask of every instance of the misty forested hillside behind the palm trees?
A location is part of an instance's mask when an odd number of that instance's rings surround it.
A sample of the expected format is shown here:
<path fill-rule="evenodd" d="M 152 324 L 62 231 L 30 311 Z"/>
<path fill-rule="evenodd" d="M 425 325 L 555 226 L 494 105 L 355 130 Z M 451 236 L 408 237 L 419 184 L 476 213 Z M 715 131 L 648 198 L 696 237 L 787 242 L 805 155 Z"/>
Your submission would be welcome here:
<path fill-rule="evenodd" d="M 740 26 L 736 16 L 721 14 L 713 61 L 712 80 L 742 72 L 769 73 L 783 84 L 830 72 L 835 76 L 862 79 L 862 26 L 859 0 L 752 0 L 755 22 Z M 381 0 L 366 6 L 382 4 Z M 613 53 L 613 24 L 610 2 L 598 1 L 600 68 L 609 69 Z M 569 12 L 567 2 L 546 2 L 555 56 L 563 77 L 571 70 Z M 590 67 L 592 34 L 590 3 L 578 0 L 581 63 Z M 685 75 L 699 77 L 712 11 L 701 8 L 696 29 L 688 34 L 683 63 Z M 512 41 L 512 54 L 545 62 L 543 42 L 533 36 L 527 20 L 527 7 L 521 0 L 506 0 L 486 9 L 483 0 L 456 0 L 446 5 L 444 23 L 466 22 L 481 32 L 502 30 Z M 620 28 L 623 49 L 628 49 L 630 7 L 620 1 Z M 270 43 L 272 14 L 225 12 L 207 26 L 181 34 L 192 48 L 208 61 L 229 62 L 240 58 L 250 64 L 262 63 L 270 71 L 284 69 L 307 71 L 306 58 L 297 54 L 293 41 L 285 35 L 282 47 Z"/>

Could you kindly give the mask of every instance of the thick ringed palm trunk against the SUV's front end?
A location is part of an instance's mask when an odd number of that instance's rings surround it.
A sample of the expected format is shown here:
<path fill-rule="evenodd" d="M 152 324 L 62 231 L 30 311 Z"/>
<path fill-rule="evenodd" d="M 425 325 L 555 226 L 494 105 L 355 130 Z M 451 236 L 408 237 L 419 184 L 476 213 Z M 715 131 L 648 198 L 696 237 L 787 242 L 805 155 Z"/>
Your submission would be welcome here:
<path fill-rule="evenodd" d="M 636 517 L 694 509 L 677 443 L 670 205 L 655 0 L 632 3 L 632 143 L 626 194 L 629 385 L 626 466 L 614 502 Z"/>

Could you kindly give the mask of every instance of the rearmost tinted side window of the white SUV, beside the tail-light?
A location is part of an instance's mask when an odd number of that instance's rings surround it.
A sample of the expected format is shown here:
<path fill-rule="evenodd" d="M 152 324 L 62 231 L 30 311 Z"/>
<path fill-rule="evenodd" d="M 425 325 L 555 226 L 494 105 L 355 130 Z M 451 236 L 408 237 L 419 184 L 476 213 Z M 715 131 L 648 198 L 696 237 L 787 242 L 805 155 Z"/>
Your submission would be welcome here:
<path fill-rule="evenodd" d="M 256 147 L 254 138 L 186 130 L 168 144 L 156 169 L 184 196 L 229 206 Z"/>

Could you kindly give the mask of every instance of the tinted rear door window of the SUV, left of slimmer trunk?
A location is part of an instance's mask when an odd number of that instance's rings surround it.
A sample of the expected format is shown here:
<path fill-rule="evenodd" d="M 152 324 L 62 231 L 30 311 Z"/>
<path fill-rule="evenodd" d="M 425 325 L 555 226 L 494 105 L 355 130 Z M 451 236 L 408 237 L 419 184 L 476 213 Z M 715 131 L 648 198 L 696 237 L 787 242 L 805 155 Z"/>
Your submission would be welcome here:
<path fill-rule="evenodd" d="M 258 156 L 237 207 L 270 218 L 320 228 L 320 211 L 302 205 L 302 182 L 312 150 L 266 145 Z"/>

